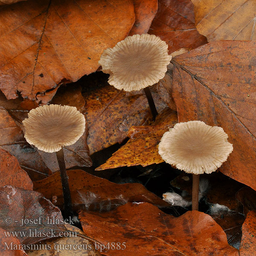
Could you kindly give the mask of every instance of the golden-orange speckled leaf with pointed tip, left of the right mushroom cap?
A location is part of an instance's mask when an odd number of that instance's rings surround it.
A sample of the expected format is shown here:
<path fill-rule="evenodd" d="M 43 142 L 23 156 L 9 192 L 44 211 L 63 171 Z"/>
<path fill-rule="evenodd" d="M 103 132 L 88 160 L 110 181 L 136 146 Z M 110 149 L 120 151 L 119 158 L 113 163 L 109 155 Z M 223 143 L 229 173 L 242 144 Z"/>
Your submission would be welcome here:
<path fill-rule="evenodd" d="M 128 131 L 131 139 L 95 170 L 162 163 L 163 159 L 158 154 L 158 143 L 163 134 L 177 122 L 177 112 L 166 108 L 152 125 L 132 126 Z"/>

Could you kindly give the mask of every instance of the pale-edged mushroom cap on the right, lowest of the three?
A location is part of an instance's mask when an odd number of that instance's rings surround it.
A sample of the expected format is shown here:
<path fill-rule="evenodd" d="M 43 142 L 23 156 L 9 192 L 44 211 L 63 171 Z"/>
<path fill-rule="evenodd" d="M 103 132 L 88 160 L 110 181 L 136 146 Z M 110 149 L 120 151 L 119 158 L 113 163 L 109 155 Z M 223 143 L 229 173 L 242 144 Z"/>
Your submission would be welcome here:
<path fill-rule="evenodd" d="M 188 173 L 217 170 L 233 151 L 223 128 L 202 121 L 180 122 L 165 134 L 158 152 L 166 163 Z"/>

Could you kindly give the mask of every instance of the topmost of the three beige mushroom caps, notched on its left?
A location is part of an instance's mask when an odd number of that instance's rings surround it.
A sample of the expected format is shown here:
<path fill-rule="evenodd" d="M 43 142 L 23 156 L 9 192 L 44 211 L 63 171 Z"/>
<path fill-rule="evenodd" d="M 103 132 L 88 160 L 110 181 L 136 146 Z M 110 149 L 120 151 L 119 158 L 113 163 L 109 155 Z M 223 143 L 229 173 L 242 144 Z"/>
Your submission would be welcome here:
<path fill-rule="evenodd" d="M 108 83 L 119 90 L 141 90 L 165 76 L 172 55 L 168 45 L 155 35 L 133 35 L 113 48 L 105 49 L 99 60 Z"/>

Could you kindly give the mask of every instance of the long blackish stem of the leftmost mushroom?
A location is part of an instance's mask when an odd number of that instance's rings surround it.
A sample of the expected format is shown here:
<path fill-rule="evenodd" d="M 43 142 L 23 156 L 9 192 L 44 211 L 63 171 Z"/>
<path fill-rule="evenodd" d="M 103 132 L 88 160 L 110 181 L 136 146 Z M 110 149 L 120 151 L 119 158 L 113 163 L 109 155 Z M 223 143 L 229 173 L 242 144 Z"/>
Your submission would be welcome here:
<path fill-rule="evenodd" d="M 56 152 L 56 156 L 57 156 L 58 165 L 61 173 L 61 184 L 62 184 L 63 198 L 64 198 L 64 215 L 65 215 L 65 218 L 68 218 L 70 216 L 73 217 L 70 187 L 68 184 L 68 176 L 67 176 L 64 152 L 62 147 L 61 147 L 61 150 Z"/>

